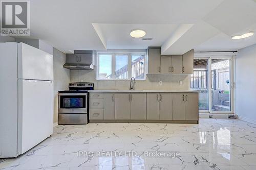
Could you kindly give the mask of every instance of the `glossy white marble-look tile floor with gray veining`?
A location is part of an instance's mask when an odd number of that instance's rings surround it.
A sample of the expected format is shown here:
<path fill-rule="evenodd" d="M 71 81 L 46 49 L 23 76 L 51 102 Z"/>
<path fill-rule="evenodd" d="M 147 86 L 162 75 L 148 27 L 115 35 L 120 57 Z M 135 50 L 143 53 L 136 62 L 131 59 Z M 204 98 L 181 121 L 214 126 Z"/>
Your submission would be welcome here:
<path fill-rule="evenodd" d="M 136 156 L 78 156 L 78 152 L 136 152 Z M 175 157 L 143 155 L 177 152 Z M 54 128 L 51 138 L 0 169 L 256 169 L 256 125 L 238 119 L 199 124 L 88 124 Z"/>

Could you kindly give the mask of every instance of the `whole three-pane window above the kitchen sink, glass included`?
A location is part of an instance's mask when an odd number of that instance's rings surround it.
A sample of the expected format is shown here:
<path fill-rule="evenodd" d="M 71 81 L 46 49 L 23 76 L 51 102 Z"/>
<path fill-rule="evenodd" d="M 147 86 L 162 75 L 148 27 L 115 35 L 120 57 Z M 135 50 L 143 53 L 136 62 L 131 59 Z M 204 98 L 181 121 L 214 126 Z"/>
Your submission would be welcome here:
<path fill-rule="evenodd" d="M 97 52 L 97 80 L 145 80 L 145 52 Z"/>

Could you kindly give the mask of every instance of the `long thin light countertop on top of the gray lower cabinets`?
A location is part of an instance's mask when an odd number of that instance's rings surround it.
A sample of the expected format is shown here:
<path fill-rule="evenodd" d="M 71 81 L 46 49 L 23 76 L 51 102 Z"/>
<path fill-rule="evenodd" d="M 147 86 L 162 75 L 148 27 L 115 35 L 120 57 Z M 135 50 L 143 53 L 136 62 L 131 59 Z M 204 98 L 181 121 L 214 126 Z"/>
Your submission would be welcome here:
<path fill-rule="evenodd" d="M 198 93 L 196 90 L 89 90 L 89 92 L 157 92 L 157 93 Z"/>

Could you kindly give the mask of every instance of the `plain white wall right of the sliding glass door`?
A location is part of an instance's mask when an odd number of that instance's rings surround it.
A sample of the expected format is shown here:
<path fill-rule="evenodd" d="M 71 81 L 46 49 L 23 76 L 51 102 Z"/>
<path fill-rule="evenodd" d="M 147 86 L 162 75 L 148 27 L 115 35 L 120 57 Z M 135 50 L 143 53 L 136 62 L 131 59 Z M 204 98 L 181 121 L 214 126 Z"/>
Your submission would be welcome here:
<path fill-rule="evenodd" d="M 236 114 L 256 123 L 256 44 L 242 48 L 236 56 Z"/>

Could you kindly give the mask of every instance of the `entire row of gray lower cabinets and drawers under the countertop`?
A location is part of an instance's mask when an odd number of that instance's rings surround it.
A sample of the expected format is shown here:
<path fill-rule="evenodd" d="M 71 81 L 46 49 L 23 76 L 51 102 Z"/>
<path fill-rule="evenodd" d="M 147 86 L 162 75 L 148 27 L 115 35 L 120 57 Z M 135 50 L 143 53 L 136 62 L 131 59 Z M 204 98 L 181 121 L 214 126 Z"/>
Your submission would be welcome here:
<path fill-rule="evenodd" d="M 92 93 L 89 117 L 92 120 L 198 121 L 198 93 Z"/>

